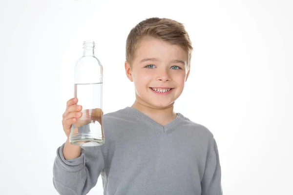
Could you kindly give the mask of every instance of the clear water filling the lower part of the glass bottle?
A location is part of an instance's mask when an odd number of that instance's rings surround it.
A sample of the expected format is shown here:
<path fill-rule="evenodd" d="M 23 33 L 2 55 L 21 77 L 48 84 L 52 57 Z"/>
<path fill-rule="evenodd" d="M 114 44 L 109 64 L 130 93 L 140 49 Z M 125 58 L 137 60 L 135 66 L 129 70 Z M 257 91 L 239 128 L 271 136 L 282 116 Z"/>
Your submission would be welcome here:
<path fill-rule="evenodd" d="M 99 146 L 105 143 L 102 111 L 103 83 L 75 84 L 74 97 L 83 106 L 83 116 L 71 127 L 69 141 L 78 146 Z"/>

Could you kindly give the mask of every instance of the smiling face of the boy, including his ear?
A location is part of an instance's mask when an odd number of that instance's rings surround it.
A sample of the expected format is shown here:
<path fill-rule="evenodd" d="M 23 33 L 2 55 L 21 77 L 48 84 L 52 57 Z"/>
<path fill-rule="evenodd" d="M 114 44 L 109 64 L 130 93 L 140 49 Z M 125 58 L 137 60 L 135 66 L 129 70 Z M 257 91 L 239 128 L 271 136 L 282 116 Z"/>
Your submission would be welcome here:
<path fill-rule="evenodd" d="M 132 67 L 125 63 L 126 75 L 134 82 L 136 101 L 156 109 L 172 106 L 188 78 L 187 62 L 188 54 L 181 47 L 159 39 L 143 39 Z"/>

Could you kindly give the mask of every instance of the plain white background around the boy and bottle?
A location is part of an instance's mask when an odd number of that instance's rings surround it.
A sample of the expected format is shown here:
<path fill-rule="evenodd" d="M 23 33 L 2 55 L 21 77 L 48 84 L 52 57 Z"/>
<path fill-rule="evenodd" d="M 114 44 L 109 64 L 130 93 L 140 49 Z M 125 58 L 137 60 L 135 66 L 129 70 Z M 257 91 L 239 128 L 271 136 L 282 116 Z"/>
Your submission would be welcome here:
<path fill-rule="evenodd" d="M 126 37 L 149 17 L 185 24 L 191 72 L 175 106 L 209 128 L 224 195 L 292 195 L 291 0 L 1 0 L 0 194 L 57 195 L 56 149 L 82 42 L 104 65 L 104 112 L 130 106 Z M 102 195 L 101 177 L 89 195 Z"/>

